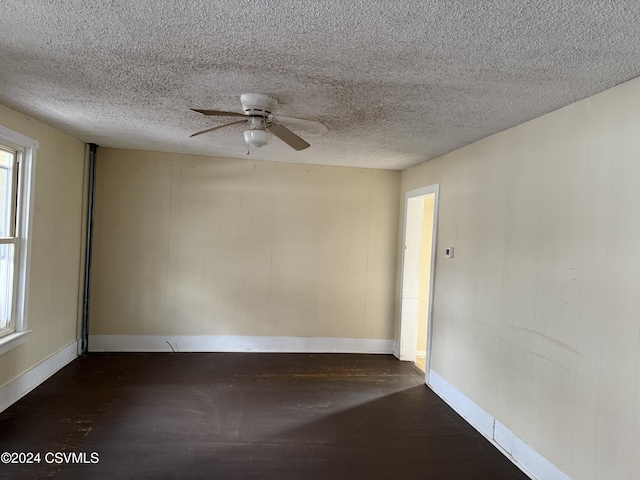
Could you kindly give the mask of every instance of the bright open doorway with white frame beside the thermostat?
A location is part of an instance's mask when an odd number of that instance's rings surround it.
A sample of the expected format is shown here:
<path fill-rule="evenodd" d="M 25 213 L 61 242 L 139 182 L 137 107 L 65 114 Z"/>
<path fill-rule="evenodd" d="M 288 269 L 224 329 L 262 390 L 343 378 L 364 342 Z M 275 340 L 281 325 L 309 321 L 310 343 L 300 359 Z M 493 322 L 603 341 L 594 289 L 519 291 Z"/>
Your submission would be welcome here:
<path fill-rule="evenodd" d="M 439 185 L 405 195 L 400 360 L 414 362 L 429 383 Z"/>

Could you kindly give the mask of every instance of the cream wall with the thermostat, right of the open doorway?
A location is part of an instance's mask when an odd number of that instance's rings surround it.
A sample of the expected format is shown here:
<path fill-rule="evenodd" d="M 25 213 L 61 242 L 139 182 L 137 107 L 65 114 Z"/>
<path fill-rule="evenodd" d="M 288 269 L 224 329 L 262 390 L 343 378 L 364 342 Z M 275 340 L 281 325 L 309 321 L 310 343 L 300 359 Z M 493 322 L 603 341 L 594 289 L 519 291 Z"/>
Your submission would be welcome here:
<path fill-rule="evenodd" d="M 575 479 L 640 478 L 639 128 L 634 80 L 402 173 L 440 182 L 433 370 Z"/>

